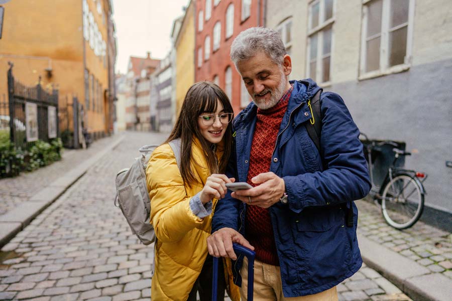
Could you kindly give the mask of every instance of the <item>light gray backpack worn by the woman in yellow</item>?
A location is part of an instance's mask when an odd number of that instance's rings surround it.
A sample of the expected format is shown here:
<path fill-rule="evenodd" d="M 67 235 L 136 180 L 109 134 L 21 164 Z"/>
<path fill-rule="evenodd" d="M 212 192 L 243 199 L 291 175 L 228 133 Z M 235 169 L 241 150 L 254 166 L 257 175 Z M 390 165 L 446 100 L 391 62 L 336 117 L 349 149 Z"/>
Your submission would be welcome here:
<path fill-rule="evenodd" d="M 168 143 L 176 157 L 177 167 L 180 169 L 180 139 Z M 146 185 L 146 167 L 152 152 L 158 145 L 144 145 L 139 151 L 140 157 L 130 168 L 123 169 L 116 175 L 115 206 L 121 208 L 129 223 L 132 233 L 145 244 L 155 240 L 155 233 L 150 223 L 151 200 Z"/>

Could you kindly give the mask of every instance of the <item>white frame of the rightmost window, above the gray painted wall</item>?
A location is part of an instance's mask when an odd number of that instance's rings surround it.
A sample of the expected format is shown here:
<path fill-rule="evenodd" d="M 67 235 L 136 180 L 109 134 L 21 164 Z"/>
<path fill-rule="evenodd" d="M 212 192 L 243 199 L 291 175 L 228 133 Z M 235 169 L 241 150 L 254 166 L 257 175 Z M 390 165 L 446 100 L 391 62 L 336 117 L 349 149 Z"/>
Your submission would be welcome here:
<path fill-rule="evenodd" d="M 369 78 L 384 76 L 392 73 L 399 73 L 408 70 L 412 63 L 413 54 L 413 28 L 414 28 L 414 9 L 415 0 L 408 0 L 408 20 L 402 25 L 398 25 L 395 28 L 399 29 L 404 26 L 407 27 L 406 33 L 406 53 L 405 61 L 402 64 L 390 66 L 390 49 L 389 49 L 389 39 L 390 39 L 390 3 L 393 0 L 381 0 L 382 1 L 382 14 L 381 14 L 381 30 L 380 30 L 380 62 L 379 69 L 366 72 L 366 60 L 367 60 L 367 22 L 368 22 L 368 5 L 375 0 L 362 0 L 361 13 L 362 13 L 362 24 L 361 24 L 361 43 L 360 43 L 360 66 L 359 66 L 359 80 L 365 80 Z M 394 29 L 393 29 L 394 30 Z"/>

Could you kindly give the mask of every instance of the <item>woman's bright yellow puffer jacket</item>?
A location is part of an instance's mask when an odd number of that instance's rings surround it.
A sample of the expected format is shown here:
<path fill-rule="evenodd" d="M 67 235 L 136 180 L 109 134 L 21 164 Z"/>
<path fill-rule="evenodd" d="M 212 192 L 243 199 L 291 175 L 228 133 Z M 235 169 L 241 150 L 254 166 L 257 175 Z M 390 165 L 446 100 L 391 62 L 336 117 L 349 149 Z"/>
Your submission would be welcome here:
<path fill-rule="evenodd" d="M 216 156 L 222 155 L 217 147 Z M 151 223 L 157 237 L 153 300 L 186 300 L 207 256 L 212 215 L 199 219 L 191 212 L 190 199 L 202 190 L 210 173 L 195 139 L 192 171 L 197 183 L 184 186 L 169 144 L 157 147 L 149 160 L 146 181 L 151 198 Z M 217 200 L 213 199 L 213 210 Z M 238 288 L 238 287 L 235 287 Z M 234 299 L 237 299 L 235 297 Z"/>

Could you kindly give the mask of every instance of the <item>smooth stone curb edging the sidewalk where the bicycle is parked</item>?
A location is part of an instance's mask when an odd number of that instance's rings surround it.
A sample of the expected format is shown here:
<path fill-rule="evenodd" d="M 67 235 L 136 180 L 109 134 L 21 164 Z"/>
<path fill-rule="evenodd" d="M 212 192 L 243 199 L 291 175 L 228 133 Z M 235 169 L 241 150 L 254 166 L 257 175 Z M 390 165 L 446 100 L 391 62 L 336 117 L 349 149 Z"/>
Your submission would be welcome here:
<path fill-rule="evenodd" d="M 382 274 L 414 300 L 449 301 L 452 279 L 358 234 L 367 266 Z"/>

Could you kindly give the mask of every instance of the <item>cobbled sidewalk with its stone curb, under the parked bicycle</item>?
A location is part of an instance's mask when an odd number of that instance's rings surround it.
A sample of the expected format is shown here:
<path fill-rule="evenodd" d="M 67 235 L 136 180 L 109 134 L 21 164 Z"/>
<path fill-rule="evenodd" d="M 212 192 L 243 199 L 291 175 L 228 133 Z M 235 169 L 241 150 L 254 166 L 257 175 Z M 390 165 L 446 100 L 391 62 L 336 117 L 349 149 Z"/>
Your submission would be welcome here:
<path fill-rule="evenodd" d="M 452 234 L 418 221 L 396 230 L 379 206 L 361 200 L 358 240 L 368 266 L 414 299 L 452 299 Z"/>

